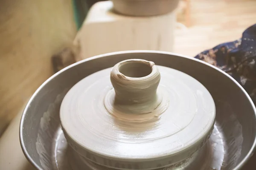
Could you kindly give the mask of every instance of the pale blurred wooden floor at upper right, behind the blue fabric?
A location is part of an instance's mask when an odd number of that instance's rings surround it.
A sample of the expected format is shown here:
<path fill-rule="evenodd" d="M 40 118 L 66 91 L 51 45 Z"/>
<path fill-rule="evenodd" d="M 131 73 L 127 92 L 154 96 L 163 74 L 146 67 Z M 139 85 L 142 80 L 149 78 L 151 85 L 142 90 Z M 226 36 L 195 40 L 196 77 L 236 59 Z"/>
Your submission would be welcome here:
<path fill-rule="evenodd" d="M 181 18 L 177 20 L 185 23 Z M 191 26 L 177 28 L 175 53 L 194 57 L 222 42 L 239 39 L 256 24 L 256 0 L 191 0 Z"/>

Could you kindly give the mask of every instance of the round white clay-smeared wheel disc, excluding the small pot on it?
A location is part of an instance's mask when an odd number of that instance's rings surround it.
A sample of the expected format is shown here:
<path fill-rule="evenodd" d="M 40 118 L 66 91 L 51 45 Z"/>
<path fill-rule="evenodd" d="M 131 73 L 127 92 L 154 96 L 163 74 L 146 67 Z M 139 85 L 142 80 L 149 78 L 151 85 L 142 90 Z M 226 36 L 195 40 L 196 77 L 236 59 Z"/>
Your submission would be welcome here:
<path fill-rule="evenodd" d="M 113 91 L 111 68 L 74 85 L 60 110 L 61 126 L 73 149 L 93 162 L 118 169 L 164 167 L 198 150 L 214 125 L 212 96 L 193 77 L 157 67 L 158 91 L 166 110 L 145 123 L 121 121 L 108 112 L 105 97 Z"/>

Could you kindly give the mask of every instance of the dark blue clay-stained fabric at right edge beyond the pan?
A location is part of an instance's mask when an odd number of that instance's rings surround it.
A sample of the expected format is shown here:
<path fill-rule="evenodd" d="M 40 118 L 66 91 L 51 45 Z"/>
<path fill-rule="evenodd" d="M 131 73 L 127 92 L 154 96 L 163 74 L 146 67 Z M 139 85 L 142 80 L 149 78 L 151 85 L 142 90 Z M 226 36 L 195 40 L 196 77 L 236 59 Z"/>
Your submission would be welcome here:
<path fill-rule="evenodd" d="M 226 42 L 195 56 L 236 79 L 256 104 L 256 24 L 241 39 Z"/>

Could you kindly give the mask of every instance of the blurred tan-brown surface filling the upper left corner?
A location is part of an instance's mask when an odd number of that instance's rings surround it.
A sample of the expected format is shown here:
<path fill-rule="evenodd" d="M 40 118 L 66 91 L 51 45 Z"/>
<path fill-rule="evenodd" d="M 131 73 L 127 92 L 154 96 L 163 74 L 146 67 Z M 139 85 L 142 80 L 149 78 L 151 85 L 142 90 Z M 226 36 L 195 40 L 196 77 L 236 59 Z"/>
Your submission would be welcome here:
<path fill-rule="evenodd" d="M 0 134 L 52 75 L 52 55 L 75 34 L 72 0 L 1 0 Z"/>

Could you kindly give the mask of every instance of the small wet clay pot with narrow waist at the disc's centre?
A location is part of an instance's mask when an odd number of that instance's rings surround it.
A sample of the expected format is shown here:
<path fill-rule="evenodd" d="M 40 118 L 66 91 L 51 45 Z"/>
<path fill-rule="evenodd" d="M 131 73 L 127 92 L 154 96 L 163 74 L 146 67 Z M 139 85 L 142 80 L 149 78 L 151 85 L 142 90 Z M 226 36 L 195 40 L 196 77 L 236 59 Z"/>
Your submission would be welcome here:
<path fill-rule="evenodd" d="M 128 113 L 150 113 L 160 104 L 157 87 L 160 72 L 154 62 L 128 59 L 111 70 L 115 105 Z M 125 111 L 126 110 L 126 111 Z"/>

